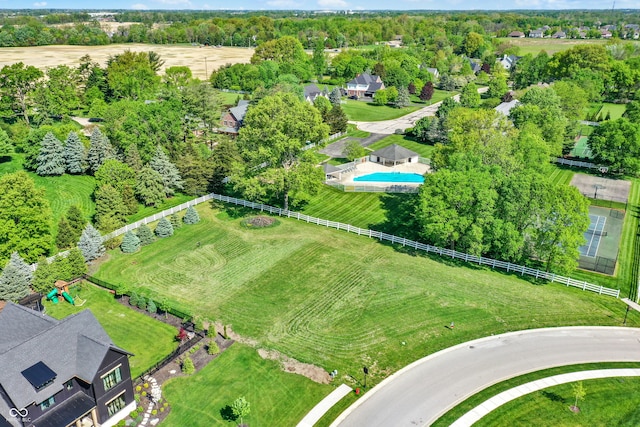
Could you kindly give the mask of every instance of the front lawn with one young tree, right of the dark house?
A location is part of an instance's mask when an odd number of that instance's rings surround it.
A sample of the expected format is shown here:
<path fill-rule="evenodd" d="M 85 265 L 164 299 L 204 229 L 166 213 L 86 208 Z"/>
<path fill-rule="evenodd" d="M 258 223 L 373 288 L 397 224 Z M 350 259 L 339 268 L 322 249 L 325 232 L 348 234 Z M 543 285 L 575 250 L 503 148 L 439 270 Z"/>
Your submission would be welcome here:
<path fill-rule="evenodd" d="M 221 411 L 244 396 L 251 405 L 245 423 L 295 426 L 311 409 L 310 402 L 319 402 L 331 391 L 329 385 L 283 372 L 277 362 L 263 360 L 254 349 L 236 343 L 197 374 L 165 383 L 163 393 L 171 403 L 171 413 L 162 425 L 232 425 Z"/>

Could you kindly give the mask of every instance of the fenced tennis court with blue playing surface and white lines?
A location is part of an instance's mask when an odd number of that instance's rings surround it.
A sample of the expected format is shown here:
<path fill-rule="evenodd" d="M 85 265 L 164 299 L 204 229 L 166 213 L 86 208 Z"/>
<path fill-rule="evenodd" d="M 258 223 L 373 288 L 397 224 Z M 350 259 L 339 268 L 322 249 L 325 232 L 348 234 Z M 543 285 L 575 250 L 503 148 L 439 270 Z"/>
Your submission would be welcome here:
<path fill-rule="evenodd" d="M 585 244 L 578 249 L 580 268 L 610 275 L 615 273 L 624 215 L 624 211 L 618 209 L 589 207 L 591 223 L 584 233 Z"/>

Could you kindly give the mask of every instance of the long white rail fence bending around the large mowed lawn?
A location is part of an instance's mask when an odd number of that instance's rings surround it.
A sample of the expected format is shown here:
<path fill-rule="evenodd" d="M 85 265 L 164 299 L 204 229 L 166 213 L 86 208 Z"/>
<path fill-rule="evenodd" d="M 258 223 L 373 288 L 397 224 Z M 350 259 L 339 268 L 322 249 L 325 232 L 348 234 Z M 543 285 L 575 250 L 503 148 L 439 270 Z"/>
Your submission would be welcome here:
<path fill-rule="evenodd" d="M 274 206 L 264 205 L 262 203 L 249 202 L 243 199 L 236 199 L 235 197 L 223 196 L 220 194 L 207 194 L 206 196 L 198 197 L 195 200 L 190 200 L 186 203 L 183 203 L 179 206 L 175 206 L 171 209 L 164 210 L 160 213 L 152 215 L 150 217 L 141 219 L 140 221 L 136 221 L 133 224 L 129 224 L 125 227 L 122 227 L 116 231 L 113 231 L 103 238 L 105 240 L 111 239 L 113 237 L 119 236 L 121 234 L 126 233 L 127 231 L 134 230 L 142 224 L 148 224 L 153 221 L 157 221 L 165 216 L 172 215 L 176 212 L 184 210 L 189 206 L 194 206 L 202 202 L 206 202 L 208 200 L 218 200 L 225 203 L 232 203 L 238 206 L 244 206 L 251 209 L 260 210 L 261 212 L 269 212 L 271 214 L 277 214 L 279 216 L 286 216 L 287 218 L 294 218 L 299 221 L 305 221 L 310 224 L 321 225 L 323 227 L 331 227 L 336 230 L 343 230 L 348 233 L 355 233 L 359 236 L 367 236 L 370 238 L 375 238 L 379 240 L 386 240 L 391 243 L 395 243 L 402 246 L 407 246 L 410 248 L 414 248 L 416 250 L 425 251 L 427 253 L 434 253 L 440 256 L 446 256 L 454 259 L 460 259 L 465 262 L 477 263 L 479 265 L 487 265 L 491 268 L 500 268 L 506 270 L 508 272 L 519 273 L 520 275 L 527 275 L 531 277 L 535 277 L 536 279 L 544 279 L 549 280 L 551 282 L 560 283 L 566 286 L 572 286 L 574 288 L 580 288 L 583 291 L 591 291 L 596 292 L 600 295 L 610 295 L 616 298 L 620 297 L 619 289 L 611 289 L 604 286 L 594 285 L 592 283 L 588 283 L 585 281 L 575 280 L 570 277 L 560 276 L 554 273 L 548 273 L 546 271 L 537 270 L 535 268 L 525 267 L 523 265 L 512 264 L 510 262 L 498 261 L 492 258 L 479 257 L 475 255 L 469 255 L 464 252 L 458 252 L 451 249 L 439 248 L 437 246 L 427 245 L 424 243 L 416 242 L 414 240 L 405 239 L 404 237 L 397 237 L 392 234 L 382 233 L 380 231 L 375 231 L 367 228 L 354 227 L 353 225 L 343 224 L 341 222 L 329 221 L 326 219 L 315 218 L 309 215 L 301 214 L 300 212 L 293 212 L 281 208 L 276 208 Z"/>

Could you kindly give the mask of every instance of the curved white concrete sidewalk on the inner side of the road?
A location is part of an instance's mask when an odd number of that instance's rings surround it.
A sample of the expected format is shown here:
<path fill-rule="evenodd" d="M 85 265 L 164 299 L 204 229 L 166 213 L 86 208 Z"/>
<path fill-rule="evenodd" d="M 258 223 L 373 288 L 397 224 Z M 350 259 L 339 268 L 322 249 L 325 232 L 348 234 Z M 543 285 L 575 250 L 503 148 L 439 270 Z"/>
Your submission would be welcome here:
<path fill-rule="evenodd" d="M 491 399 L 485 400 L 480 405 L 476 406 L 475 408 L 464 414 L 462 417 L 460 417 L 455 423 L 451 424 L 451 427 L 470 427 L 478 422 L 482 417 L 487 415 L 489 412 L 504 405 L 505 403 L 511 402 L 512 400 L 515 400 L 526 394 L 543 390 L 548 387 L 597 378 L 639 376 L 640 369 L 598 369 L 593 371 L 572 372 L 569 374 L 554 375 L 552 377 L 542 378 L 540 380 L 531 381 L 529 383 L 519 385 L 518 387 L 503 391 L 502 393 L 493 396 Z"/>

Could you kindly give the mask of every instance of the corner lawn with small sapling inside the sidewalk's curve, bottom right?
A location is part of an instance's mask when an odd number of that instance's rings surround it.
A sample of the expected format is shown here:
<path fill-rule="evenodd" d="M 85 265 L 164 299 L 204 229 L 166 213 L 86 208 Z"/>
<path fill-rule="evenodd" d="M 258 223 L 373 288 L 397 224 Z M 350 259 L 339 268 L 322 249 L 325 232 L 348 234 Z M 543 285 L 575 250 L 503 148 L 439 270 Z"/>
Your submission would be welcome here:
<path fill-rule="evenodd" d="M 640 378 L 606 378 L 583 381 L 586 396 L 578 402 L 579 413 L 569 410 L 575 403 L 572 384 L 540 390 L 499 407 L 474 426 L 637 426 Z M 544 416 L 541 416 L 544 414 Z"/>

